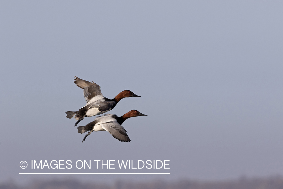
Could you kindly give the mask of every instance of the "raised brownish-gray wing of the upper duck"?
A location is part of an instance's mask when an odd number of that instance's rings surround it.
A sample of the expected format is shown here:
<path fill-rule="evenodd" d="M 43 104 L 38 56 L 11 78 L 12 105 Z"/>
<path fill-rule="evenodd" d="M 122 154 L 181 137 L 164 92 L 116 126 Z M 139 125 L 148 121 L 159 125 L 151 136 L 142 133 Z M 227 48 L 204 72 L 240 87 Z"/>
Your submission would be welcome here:
<path fill-rule="evenodd" d="M 89 102 L 89 100 L 97 95 L 102 95 L 100 91 L 100 86 L 95 82 L 85 81 L 78 77 L 74 78 L 74 83 L 83 89 L 83 95 L 85 97 L 85 101 Z M 103 95 L 102 95 L 103 96 Z"/>

